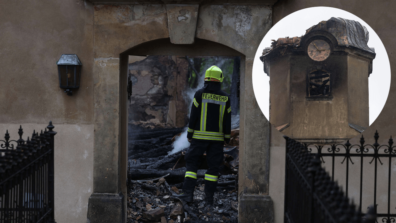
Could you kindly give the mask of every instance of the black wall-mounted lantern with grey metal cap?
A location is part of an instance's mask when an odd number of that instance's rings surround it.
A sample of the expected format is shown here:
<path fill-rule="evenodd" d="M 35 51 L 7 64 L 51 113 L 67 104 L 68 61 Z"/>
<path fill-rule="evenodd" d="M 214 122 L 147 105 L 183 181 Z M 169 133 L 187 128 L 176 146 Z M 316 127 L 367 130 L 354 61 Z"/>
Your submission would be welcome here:
<path fill-rule="evenodd" d="M 59 87 L 67 88 L 65 93 L 72 95 L 70 88 L 78 88 L 80 85 L 82 63 L 76 54 L 62 54 L 56 64 L 58 65 Z"/>

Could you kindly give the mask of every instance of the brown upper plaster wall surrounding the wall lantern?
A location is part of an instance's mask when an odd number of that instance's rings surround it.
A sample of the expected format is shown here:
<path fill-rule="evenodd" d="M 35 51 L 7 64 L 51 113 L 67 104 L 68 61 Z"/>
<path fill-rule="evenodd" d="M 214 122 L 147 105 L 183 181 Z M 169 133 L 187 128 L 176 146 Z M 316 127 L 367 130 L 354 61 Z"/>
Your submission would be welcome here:
<path fill-rule="evenodd" d="M 89 1 L 0 2 L 0 123 L 91 124 L 93 4 Z M 76 54 L 80 88 L 59 88 L 57 60 Z"/>

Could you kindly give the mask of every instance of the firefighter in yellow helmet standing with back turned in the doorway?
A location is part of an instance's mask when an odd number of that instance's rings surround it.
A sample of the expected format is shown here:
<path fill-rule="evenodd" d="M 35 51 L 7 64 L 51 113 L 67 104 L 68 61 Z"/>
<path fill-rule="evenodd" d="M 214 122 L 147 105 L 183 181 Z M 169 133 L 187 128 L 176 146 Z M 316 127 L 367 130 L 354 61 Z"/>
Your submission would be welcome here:
<path fill-rule="evenodd" d="M 183 193 L 174 195 L 186 202 L 193 202 L 197 181 L 198 160 L 206 151 L 208 171 L 205 173 L 205 200 L 213 204 L 217 178 L 223 161 L 224 144 L 228 145 L 231 134 L 231 106 L 229 95 L 221 90 L 224 75 L 221 69 L 211 66 L 205 73 L 204 87 L 199 89 L 192 101 L 187 139 L 190 148 L 184 156 L 187 172 Z"/>

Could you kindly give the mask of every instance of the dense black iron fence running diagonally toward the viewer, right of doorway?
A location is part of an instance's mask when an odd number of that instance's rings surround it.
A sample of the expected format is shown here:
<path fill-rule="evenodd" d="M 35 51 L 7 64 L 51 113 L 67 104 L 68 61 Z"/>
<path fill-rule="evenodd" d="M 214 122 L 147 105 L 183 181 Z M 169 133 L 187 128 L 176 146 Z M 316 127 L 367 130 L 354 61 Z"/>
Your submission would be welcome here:
<path fill-rule="evenodd" d="M 287 136 L 285 223 L 374 223 L 374 208 L 362 218 L 343 190 L 320 165 L 320 156 Z"/>

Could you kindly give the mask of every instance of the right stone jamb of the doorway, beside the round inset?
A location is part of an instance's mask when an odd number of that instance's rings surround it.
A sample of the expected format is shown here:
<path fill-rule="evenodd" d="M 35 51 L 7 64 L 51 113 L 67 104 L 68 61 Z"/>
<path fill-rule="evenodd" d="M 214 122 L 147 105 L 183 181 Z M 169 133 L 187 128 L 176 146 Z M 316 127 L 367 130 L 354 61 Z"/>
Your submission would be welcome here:
<path fill-rule="evenodd" d="M 272 223 L 274 211 L 268 196 L 270 123 L 254 96 L 253 60 L 245 61 L 245 72 L 242 66 L 241 60 L 241 74 L 245 75 L 244 78 L 241 75 L 240 133 L 243 135 L 240 135 L 239 150 L 238 222 Z"/>

